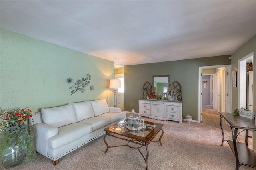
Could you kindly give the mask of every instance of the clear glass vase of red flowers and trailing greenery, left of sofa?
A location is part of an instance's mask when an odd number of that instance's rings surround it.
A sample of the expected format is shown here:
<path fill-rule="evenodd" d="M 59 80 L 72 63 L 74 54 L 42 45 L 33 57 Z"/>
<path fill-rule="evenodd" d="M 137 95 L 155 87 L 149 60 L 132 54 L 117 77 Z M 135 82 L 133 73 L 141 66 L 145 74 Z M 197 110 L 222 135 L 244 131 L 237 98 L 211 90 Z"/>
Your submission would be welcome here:
<path fill-rule="evenodd" d="M 12 112 L 1 109 L 0 133 L 4 133 L 1 141 L 0 159 L 4 167 L 13 168 L 24 160 L 37 160 L 33 148 L 33 133 L 27 123 L 32 117 L 32 110 L 18 108 Z"/>

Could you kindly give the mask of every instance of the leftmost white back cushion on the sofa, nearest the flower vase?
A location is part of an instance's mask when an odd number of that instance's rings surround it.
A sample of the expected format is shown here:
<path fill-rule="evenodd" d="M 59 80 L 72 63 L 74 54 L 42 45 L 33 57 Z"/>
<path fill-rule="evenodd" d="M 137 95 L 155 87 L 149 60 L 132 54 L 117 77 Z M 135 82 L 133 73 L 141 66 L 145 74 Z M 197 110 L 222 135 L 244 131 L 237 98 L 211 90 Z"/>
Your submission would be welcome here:
<path fill-rule="evenodd" d="M 76 114 L 72 105 L 42 108 L 41 112 L 44 123 L 57 128 L 76 123 Z"/>

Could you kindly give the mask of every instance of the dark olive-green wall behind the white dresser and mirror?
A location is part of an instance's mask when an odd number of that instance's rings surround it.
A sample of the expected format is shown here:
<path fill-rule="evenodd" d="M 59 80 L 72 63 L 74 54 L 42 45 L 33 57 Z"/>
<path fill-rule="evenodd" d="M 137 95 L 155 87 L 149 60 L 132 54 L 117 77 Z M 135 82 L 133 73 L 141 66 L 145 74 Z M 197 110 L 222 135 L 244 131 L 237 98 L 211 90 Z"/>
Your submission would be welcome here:
<path fill-rule="evenodd" d="M 146 81 L 152 84 L 153 75 L 170 75 L 170 83 L 178 81 L 182 87 L 183 118 L 190 114 L 198 120 L 198 67 L 231 64 L 230 55 L 205 57 L 124 66 L 124 110 L 138 112 L 138 99 Z"/>

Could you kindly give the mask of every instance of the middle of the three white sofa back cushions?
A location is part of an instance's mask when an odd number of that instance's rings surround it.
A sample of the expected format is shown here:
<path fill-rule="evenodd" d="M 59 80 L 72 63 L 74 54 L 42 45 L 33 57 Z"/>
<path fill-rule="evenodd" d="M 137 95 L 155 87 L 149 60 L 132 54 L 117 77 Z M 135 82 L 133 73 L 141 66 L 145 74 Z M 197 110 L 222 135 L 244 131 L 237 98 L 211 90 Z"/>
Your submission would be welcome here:
<path fill-rule="evenodd" d="M 84 119 L 88 119 L 90 117 L 94 117 L 90 101 L 83 101 L 70 104 L 74 107 L 77 122 L 82 121 Z"/>

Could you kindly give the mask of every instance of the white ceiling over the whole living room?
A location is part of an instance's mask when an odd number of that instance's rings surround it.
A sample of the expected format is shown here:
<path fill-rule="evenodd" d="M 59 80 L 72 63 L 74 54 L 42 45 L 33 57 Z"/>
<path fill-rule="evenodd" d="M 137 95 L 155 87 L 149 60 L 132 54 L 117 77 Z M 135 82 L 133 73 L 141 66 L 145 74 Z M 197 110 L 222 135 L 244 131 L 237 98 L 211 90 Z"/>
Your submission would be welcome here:
<path fill-rule="evenodd" d="M 230 55 L 256 35 L 256 1 L 0 1 L 1 28 L 135 65 Z"/>

